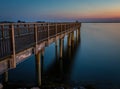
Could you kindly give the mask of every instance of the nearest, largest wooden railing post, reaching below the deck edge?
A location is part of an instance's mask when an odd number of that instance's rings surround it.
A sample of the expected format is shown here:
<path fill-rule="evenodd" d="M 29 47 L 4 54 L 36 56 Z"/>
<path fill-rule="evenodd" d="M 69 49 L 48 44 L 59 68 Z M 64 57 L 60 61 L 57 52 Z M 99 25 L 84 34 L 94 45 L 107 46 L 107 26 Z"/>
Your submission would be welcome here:
<path fill-rule="evenodd" d="M 10 68 L 16 68 L 16 56 L 15 56 L 15 34 L 14 34 L 14 25 L 10 25 L 10 38 L 12 46 L 12 59 L 10 60 Z"/>

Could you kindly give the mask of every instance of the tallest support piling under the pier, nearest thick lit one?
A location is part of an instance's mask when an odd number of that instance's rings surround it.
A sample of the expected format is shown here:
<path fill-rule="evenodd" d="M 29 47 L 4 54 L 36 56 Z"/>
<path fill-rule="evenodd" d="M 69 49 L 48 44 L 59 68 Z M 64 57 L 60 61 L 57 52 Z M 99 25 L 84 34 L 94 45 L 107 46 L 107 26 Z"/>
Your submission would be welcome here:
<path fill-rule="evenodd" d="M 38 52 L 36 55 L 36 75 L 38 86 L 41 86 L 41 52 Z"/>

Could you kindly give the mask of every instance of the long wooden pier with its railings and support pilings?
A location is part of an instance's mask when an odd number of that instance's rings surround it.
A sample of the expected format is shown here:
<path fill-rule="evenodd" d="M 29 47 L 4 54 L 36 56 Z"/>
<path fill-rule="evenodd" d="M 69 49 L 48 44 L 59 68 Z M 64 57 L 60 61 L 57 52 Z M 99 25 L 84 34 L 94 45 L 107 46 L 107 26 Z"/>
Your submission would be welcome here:
<path fill-rule="evenodd" d="M 41 56 L 44 56 L 45 47 L 55 42 L 57 51 L 57 40 L 59 39 L 59 57 L 62 58 L 65 35 L 68 35 L 68 47 L 74 46 L 74 31 L 79 40 L 80 26 L 81 23 L 0 24 L 0 72 L 15 68 L 16 64 L 34 53 L 38 85 L 40 86 Z M 7 76 L 7 72 L 4 75 Z M 7 81 L 7 77 L 4 80 Z"/>

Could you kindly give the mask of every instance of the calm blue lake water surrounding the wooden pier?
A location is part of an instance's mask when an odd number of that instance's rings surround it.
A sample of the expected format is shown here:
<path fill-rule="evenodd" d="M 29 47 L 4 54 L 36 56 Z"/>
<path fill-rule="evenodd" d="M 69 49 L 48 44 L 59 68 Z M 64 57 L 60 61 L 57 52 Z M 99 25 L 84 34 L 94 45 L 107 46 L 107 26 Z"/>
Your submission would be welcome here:
<path fill-rule="evenodd" d="M 42 86 L 120 89 L 120 23 L 82 23 L 80 41 L 75 37 L 74 46 L 67 47 L 65 37 L 62 59 L 57 49 L 54 43 L 45 48 Z M 37 78 L 33 55 L 8 71 L 6 86 L 37 86 Z"/>

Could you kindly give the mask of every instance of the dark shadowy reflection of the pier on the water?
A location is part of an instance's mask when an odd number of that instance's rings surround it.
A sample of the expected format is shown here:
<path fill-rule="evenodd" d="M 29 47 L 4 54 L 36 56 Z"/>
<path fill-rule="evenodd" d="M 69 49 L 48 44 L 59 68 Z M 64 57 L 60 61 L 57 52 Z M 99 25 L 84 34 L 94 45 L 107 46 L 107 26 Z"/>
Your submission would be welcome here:
<path fill-rule="evenodd" d="M 64 41 L 66 42 L 66 41 Z M 70 80 L 70 74 L 71 74 L 71 68 L 74 61 L 74 57 L 76 54 L 76 51 L 78 47 L 80 46 L 80 39 L 79 41 L 75 40 L 73 41 L 71 47 L 68 47 L 66 43 L 63 43 L 65 46 L 63 46 L 63 58 L 59 58 L 59 50 L 58 46 L 55 47 L 55 57 L 52 65 L 48 68 L 48 70 L 44 71 L 44 75 L 42 76 L 43 86 L 60 86 L 63 84 L 66 86 L 66 84 L 69 84 Z"/>

